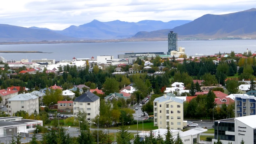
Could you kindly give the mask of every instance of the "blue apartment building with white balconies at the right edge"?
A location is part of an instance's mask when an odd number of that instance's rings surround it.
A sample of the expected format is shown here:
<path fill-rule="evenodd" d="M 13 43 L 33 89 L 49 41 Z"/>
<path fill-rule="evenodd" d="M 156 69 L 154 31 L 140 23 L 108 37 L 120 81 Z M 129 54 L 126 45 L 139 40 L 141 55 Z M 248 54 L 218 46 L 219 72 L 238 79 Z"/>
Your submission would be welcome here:
<path fill-rule="evenodd" d="M 235 117 L 255 115 L 256 97 L 235 95 Z"/>

